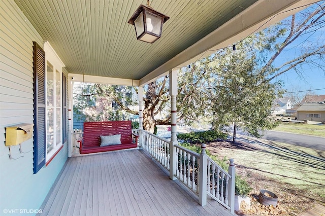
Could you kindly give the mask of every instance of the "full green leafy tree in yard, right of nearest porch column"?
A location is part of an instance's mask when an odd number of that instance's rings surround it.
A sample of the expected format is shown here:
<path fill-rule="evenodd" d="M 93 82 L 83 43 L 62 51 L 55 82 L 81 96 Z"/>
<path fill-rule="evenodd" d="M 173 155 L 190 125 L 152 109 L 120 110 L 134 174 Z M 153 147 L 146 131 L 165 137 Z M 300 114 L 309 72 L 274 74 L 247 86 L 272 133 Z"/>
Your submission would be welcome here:
<path fill-rule="evenodd" d="M 273 101 L 281 94 L 281 83 L 266 81 L 260 73 L 260 52 L 247 54 L 247 48 L 256 46 L 256 42 L 249 37 L 236 52 L 224 49 L 211 64 L 214 82 L 207 92 L 212 101 L 211 122 L 215 129 L 233 124 L 233 142 L 239 127 L 258 137 L 260 130 L 277 125 L 270 116 Z"/>

